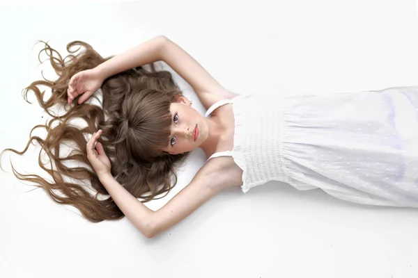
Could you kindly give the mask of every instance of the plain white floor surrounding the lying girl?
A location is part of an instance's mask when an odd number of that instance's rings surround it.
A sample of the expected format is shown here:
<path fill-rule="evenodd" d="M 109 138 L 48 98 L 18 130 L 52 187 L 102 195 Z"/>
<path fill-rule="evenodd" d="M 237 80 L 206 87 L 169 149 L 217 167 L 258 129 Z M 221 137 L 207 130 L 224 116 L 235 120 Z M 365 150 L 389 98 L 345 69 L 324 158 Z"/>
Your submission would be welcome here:
<path fill-rule="evenodd" d="M 418 85 L 415 0 L 139 1 L 0 8 L 0 149 L 22 150 L 47 119 L 21 90 L 40 45 L 84 40 L 103 56 L 164 34 L 226 88 L 254 94 Z M 31 49 L 33 47 L 33 49 Z M 53 76 L 52 76 L 53 77 Z M 196 95 L 177 79 L 186 95 Z M 35 97 L 29 97 L 35 100 Z M 204 113 L 202 106 L 199 111 Z M 17 170 L 39 172 L 39 147 Z M 148 240 L 126 218 L 92 224 L 0 172 L 0 277 L 418 277 L 418 210 L 359 206 L 268 183 L 226 190 Z M 203 165 L 193 152 L 169 197 Z"/>

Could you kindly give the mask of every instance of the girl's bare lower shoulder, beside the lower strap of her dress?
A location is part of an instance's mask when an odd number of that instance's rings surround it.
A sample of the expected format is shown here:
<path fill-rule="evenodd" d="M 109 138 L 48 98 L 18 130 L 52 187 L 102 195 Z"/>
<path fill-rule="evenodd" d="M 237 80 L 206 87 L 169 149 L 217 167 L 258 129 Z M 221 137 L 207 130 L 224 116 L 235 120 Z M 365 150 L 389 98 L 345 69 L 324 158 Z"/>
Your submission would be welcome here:
<path fill-rule="evenodd" d="M 201 167 L 193 180 L 217 190 L 238 187 L 242 186 L 242 170 L 231 156 L 212 158 Z"/>

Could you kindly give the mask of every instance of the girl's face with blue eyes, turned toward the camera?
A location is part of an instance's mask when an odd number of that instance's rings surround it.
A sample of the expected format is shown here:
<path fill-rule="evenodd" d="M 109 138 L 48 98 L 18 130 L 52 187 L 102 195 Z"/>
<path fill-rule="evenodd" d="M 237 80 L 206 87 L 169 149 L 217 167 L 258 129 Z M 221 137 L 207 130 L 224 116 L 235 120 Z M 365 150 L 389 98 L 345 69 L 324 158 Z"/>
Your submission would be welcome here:
<path fill-rule="evenodd" d="M 190 152 L 208 138 L 206 118 L 191 107 L 188 99 L 178 97 L 177 102 L 171 104 L 170 111 L 173 121 L 165 152 L 169 154 Z M 197 136 L 196 140 L 194 134 Z"/>

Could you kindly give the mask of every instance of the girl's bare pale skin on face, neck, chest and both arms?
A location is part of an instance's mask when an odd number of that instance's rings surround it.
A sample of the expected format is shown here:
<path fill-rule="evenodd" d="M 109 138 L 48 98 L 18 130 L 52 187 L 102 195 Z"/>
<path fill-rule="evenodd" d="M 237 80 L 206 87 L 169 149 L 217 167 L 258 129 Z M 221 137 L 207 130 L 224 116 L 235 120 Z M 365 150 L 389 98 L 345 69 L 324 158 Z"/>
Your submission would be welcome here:
<path fill-rule="evenodd" d="M 164 36 L 159 36 L 139 44 L 123 54 L 119 54 L 91 70 L 72 76 L 68 85 L 68 103 L 78 95 L 78 104 L 100 88 L 107 77 L 124 70 L 162 60 L 187 81 L 203 106 L 208 109 L 215 102 L 230 99 L 236 95 L 219 85 L 199 63 L 177 44 Z M 171 104 L 171 113 L 178 113 L 173 122 L 171 135 L 175 138 L 173 147 L 167 142 L 166 152 L 178 154 L 201 147 L 206 156 L 233 148 L 234 118 L 231 104 L 225 104 L 213 111 L 210 118 L 202 117 L 185 97 L 179 97 Z M 177 119 L 177 118 L 176 118 Z M 194 141 L 192 131 L 199 126 L 199 138 Z M 192 181 L 174 196 L 166 205 L 152 211 L 139 202 L 121 186 L 110 174 L 109 158 L 98 138 L 97 131 L 87 142 L 87 157 L 98 177 L 123 211 L 125 216 L 144 234 L 152 238 L 162 231 L 185 219 L 204 202 L 224 188 L 242 185 L 242 170 L 231 157 L 212 158 L 196 173 Z"/>

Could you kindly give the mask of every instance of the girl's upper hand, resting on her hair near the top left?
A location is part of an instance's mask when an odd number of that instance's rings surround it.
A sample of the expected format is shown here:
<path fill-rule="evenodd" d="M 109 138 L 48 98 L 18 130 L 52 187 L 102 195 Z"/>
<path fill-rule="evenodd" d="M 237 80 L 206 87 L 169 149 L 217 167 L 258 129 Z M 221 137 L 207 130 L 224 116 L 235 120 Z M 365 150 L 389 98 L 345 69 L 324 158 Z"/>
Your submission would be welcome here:
<path fill-rule="evenodd" d="M 68 104 L 71 104 L 72 100 L 79 95 L 82 95 L 82 97 L 79 98 L 78 104 L 82 104 L 100 88 L 103 81 L 102 76 L 95 69 L 77 72 L 68 83 Z"/>

